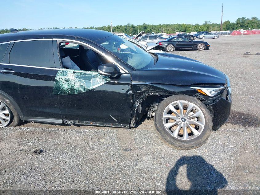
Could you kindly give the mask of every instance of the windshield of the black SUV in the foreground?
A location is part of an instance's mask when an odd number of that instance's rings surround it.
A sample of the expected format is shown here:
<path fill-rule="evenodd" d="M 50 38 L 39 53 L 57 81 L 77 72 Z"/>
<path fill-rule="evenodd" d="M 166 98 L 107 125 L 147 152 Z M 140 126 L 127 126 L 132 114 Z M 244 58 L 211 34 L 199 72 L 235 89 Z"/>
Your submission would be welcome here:
<path fill-rule="evenodd" d="M 106 48 L 134 69 L 141 70 L 154 65 L 154 58 L 148 52 L 117 35 L 100 39 L 96 43 Z"/>

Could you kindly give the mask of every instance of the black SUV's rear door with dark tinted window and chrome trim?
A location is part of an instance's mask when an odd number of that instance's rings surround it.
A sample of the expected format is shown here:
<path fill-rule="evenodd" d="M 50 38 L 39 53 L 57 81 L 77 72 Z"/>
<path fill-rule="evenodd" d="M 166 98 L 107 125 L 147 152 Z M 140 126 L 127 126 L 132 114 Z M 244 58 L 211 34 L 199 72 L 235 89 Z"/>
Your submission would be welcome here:
<path fill-rule="evenodd" d="M 58 95 L 53 94 L 52 39 L 10 43 L 0 69 L 0 90 L 16 101 L 22 119 L 61 119 Z"/>

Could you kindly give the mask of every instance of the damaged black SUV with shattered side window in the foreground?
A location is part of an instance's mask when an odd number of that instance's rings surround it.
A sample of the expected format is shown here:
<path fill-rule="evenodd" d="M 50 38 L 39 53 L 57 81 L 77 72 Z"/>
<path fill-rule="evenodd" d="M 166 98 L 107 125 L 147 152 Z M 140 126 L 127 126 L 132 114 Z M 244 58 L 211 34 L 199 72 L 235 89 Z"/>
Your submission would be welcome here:
<path fill-rule="evenodd" d="M 221 71 L 147 53 L 106 31 L 0 35 L 0 127 L 28 120 L 129 128 L 147 115 L 171 147 L 192 149 L 225 123 L 230 108 Z"/>

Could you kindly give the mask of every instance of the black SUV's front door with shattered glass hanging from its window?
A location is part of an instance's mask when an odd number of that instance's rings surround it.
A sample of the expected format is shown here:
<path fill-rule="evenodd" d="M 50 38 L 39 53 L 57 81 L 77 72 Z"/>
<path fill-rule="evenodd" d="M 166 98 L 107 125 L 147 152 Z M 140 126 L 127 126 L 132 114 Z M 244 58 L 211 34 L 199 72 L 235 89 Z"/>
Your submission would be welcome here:
<path fill-rule="evenodd" d="M 61 44 L 58 41 L 57 52 L 61 52 Z M 65 53 L 66 49 L 63 48 Z M 128 127 L 132 110 L 130 73 L 116 78 L 99 75 L 97 70 L 88 66 L 98 67 L 98 63 L 108 61 L 85 46 L 79 45 L 74 50 L 71 55 L 75 58 L 78 52 L 81 62 L 77 64 L 74 60 L 77 70 L 65 68 L 64 60 L 60 59 L 61 69 L 57 70 L 55 78 L 54 93 L 59 97 L 62 119 L 65 122 Z M 65 56 L 71 59 L 69 51 Z"/>

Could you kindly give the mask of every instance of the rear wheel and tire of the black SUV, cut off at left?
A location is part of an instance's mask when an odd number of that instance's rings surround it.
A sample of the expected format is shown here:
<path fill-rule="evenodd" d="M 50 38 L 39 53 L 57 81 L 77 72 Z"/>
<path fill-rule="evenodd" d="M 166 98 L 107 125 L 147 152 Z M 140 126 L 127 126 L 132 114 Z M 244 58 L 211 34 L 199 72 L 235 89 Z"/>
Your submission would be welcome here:
<path fill-rule="evenodd" d="M 5 114 L 5 116 L 10 117 L 10 120 L 8 123 L 5 123 L 4 126 L 2 125 L 2 122 L 0 121 L 0 128 L 1 127 L 6 127 L 6 126 L 10 126 L 10 127 L 16 127 L 19 124 L 21 124 L 22 120 L 20 119 L 20 116 L 18 115 L 18 113 L 16 112 L 14 106 L 10 103 L 9 100 L 7 100 L 5 97 L 3 97 L 2 95 L 0 95 L 0 106 L 2 107 L 2 105 L 4 105 L 5 107 L 2 108 L 4 111 L 8 111 L 8 114 Z M 2 110 L 1 109 L 1 110 Z M 0 110 L 0 112 L 1 112 Z M 2 110 L 2 111 L 3 111 Z M 7 112 L 6 112 L 7 113 Z M 0 113 L 0 117 L 2 119 L 2 115 Z M 2 119 L 3 120 L 3 119 Z M 6 120 L 4 121 L 6 122 Z"/>

